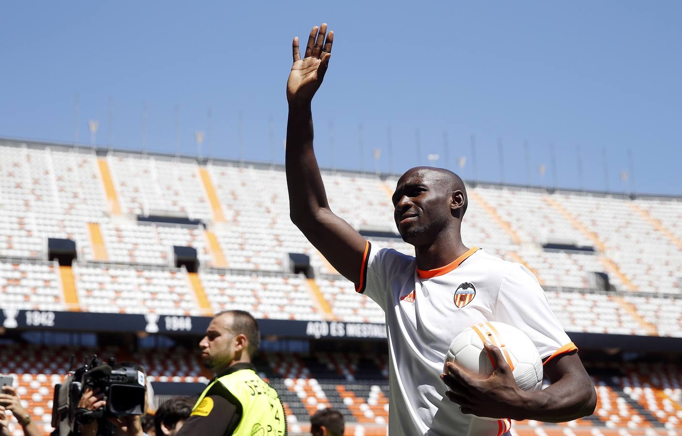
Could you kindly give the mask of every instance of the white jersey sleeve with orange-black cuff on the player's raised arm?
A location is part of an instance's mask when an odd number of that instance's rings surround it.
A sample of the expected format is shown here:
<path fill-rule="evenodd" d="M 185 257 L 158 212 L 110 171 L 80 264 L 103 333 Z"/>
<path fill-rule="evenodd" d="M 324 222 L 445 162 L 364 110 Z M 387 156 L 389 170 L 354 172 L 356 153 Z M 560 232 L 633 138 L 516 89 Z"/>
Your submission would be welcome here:
<path fill-rule="evenodd" d="M 372 298 L 383 311 L 386 311 L 389 281 L 404 266 L 401 256 L 394 249 L 378 247 L 367 241 L 355 290 Z"/>

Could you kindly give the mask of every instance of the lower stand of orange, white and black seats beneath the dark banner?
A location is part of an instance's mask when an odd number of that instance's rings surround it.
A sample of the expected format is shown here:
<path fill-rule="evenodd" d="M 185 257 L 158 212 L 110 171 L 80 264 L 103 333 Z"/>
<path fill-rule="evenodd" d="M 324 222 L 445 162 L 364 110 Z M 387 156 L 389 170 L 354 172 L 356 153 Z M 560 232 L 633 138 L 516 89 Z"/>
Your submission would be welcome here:
<path fill-rule="evenodd" d="M 135 360 L 147 368 L 153 382 L 205 383 L 210 377 L 201 369 L 198 352 L 183 348 L 143 349 L 128 352 L 119 347 L 0 348 L 0 373 L 17 377 L 19 394 L 46 434 L 51 430 L 52 389 L 68 370 L 71 354 L 100 353 L 119 360 Z M 388 417 L 388 379 L 378 354 L 261 353 L 256 367 L 285 404 L 289 429 L 306 431 L 308 416 L 322 407 L 344 414 L 353 433 L 385 435 Z M 344 362 L 339 364 L 338 362 Z M 352 369 L 344 371 L 344 369 Z M 597 386 L 595 415 L 555 426 L 539 422 L 514 422 L 517 435 L 594 435 L 595 425 L 604 435 L 675 434 L 682 420 L 682 371 L 668 364 L 602 363 L 588 367 Z M 361 428 L 361 431 L 357 429 Z M 21 434 L 14 429 L 12 434 Z M 18 433 L 17 433 L 18 432 Z M 672 432 L 672 433 L 671 433 Z"/>

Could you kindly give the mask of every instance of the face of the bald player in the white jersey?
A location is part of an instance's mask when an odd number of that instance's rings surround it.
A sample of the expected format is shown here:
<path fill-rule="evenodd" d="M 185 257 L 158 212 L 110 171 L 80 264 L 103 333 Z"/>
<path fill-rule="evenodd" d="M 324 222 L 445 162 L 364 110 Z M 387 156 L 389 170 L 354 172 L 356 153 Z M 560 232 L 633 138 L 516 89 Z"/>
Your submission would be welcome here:
<path fill-rule="evenodd" d="M 402 175 L 393 194 L 394 219 L 406 243 L 430 243 L 450 217 L 450 196 L 437 173 L 426 169 Z"/>

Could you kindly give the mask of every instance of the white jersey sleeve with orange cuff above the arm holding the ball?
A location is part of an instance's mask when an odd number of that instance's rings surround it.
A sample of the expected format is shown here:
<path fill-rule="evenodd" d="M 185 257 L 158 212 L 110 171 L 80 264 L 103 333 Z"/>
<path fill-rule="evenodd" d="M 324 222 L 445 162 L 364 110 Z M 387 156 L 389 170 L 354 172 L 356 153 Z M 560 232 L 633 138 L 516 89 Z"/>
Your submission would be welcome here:
<path fill-rule="evenodd" d="M 542 360 L 577 350 L 537 279 L 520 264 L 514 264 L 500 282 L 494 317 L 527 334 Z"/>

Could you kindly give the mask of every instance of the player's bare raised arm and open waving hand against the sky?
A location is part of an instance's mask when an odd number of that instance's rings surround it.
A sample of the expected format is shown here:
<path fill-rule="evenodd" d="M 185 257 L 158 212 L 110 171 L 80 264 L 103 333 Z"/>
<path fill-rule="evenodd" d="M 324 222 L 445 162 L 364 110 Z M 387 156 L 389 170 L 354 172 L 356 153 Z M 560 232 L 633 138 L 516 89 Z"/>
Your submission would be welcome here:
<path fill-rule="evenodd" d="M 286 83 L 286 184 L 291 221 L 338 272 L 357 284 L 366 241 L 331 212 L 312 146 L 312 97 L 327 72 L 332 44 L 333 32 L 327 34 L 326 24 L 312 28 L 303 59 L 298 38 L 293 40 L 294 63 Z"/>

